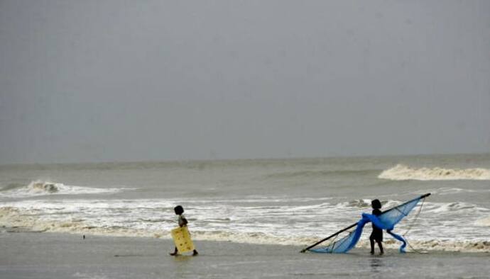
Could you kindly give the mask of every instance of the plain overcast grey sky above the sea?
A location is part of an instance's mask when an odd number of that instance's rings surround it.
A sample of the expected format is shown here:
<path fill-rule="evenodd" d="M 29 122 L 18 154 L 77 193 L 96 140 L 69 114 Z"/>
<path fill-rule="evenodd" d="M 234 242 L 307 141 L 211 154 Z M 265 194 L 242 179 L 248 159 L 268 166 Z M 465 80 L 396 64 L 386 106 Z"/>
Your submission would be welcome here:
<path fill-rule="evenodd" d="M 488 153 L 489 15 L 0 0 L 0 164 Z"/>

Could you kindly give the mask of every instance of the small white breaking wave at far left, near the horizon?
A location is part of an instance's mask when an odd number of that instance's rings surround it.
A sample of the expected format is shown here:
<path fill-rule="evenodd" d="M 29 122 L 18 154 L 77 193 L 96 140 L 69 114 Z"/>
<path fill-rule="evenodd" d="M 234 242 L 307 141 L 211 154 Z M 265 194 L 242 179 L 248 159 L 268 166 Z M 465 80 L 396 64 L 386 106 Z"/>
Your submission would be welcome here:
<path fill-rule="evenodd" d="M 79 195 L 116 193 L 122 188 L 90 188 L 82 186 L 68 186 L 62 183 L 49 181 L 32 181 L 27 186 L 21 184 L 9 184 L 1 188 L 0 197 L 4 198 L 28 198 L 38 195 Z"/>

